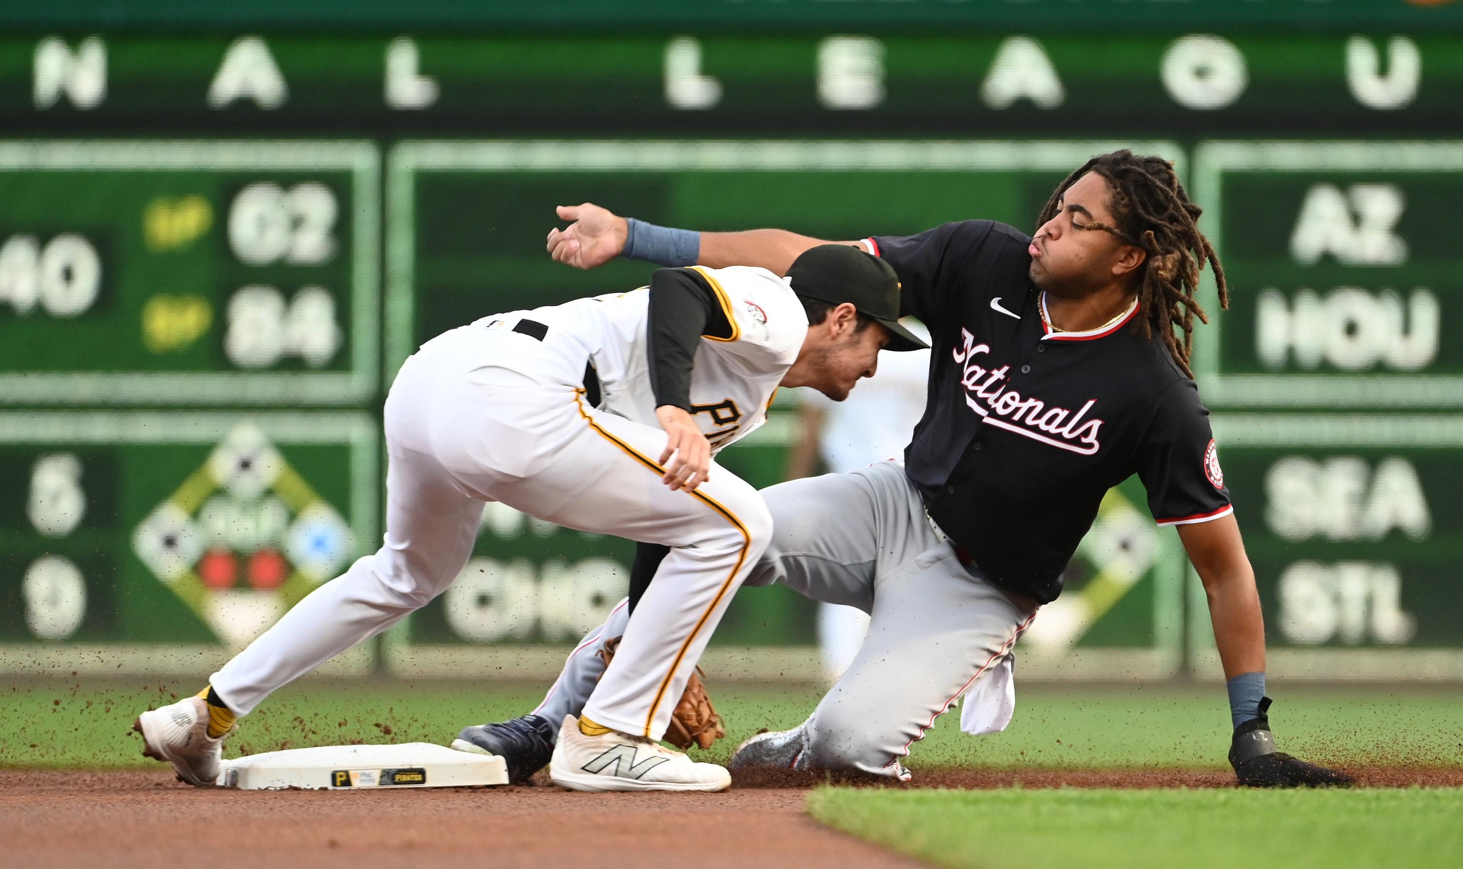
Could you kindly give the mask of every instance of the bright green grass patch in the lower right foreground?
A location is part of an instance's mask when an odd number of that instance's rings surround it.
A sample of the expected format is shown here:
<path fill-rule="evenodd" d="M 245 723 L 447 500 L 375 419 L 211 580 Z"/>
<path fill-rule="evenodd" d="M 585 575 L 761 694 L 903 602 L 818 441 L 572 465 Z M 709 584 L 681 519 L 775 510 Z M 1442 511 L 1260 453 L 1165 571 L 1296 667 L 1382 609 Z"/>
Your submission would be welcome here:
<path fill-rule="evenodd" d="M 873 790 L 809 812 L 939 866 L 1457 866 L 1463 790 Z"/>

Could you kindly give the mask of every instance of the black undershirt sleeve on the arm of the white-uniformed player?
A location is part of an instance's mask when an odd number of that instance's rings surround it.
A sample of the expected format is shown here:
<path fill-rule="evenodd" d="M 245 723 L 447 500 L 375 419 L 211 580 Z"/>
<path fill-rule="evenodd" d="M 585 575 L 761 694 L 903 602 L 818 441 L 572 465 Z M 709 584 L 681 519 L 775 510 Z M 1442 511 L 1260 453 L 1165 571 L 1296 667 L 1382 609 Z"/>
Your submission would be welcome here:
<path fill-rule="evenodd" d="M 645 323 L 655 407 L 669 404 L 691 413 L 691 363 L 702 335 L 732 336 L 732 323 L 711 284 L 695 269 L 655 269 Z"/>

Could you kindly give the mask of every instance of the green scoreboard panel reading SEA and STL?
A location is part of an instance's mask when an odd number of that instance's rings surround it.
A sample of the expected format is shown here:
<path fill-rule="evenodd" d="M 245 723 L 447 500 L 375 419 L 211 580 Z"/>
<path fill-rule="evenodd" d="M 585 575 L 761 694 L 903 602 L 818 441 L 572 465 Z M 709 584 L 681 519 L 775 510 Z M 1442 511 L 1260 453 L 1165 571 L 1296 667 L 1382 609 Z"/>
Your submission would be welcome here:
<path fill-rule="evenodd" d="M 1271 673 L 1463 677 L 1463 417 L 1216 414 L 1214 437 Z M 1207 628 L 1189 623 L 1194 661 L 1216 676 Z"/>

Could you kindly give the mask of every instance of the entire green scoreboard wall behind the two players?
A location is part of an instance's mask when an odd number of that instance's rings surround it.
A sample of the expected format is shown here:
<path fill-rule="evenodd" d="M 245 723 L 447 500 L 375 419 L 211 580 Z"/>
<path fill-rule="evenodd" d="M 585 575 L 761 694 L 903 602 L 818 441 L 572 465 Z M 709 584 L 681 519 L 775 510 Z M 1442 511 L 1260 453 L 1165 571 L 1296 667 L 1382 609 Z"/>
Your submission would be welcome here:
<path fill-rule="evenodd" d="M 1226 268 L 1195 372 L 1271 672 L 1463 679 L 1463 6 L 22 6 L 0 9 L 0 670 L 205 672 L 375 549 L 408 354 L 647 282 L 549 260 L 554 205 L 1030 230 L 1127 146 L 1173 159 Z M 799 436 L 789 392 L 723 456 L 756 486 Z M 631 553 L 490 505 L 456 585 L 334 666 L 552 673 Z M 1024 674 L 1217 676 L 1135 480 L 1067 581 Z M 812 616 L 748 591 L 708 661 L 815 673 Z"/>

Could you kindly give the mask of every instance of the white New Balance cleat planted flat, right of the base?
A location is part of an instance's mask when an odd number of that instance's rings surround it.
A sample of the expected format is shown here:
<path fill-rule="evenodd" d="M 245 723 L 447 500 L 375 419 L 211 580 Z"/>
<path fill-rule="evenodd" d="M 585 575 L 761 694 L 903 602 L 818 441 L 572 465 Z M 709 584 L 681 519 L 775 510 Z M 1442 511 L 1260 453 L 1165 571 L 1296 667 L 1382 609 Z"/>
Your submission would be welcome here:
<path fill-rule="evenodd" d="M 732 774 L 715 764 L 698 764 L 642 736 L 609 731 L 585 736 L 579 720 L 563 717 L 549 777 L 569 790 L 726 790 Z"/>

